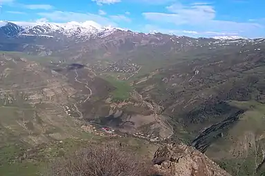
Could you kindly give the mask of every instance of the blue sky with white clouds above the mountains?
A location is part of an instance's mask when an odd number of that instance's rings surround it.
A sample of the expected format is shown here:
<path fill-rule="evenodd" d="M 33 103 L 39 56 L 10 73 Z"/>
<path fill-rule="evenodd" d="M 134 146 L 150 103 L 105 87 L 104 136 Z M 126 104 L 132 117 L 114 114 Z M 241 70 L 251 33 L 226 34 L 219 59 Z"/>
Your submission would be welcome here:
<path fill-rule="evenodd" d="M 94 21 L 137 32 L 265 37 L 264 0 L 0 0 L 0 20 Z"/>

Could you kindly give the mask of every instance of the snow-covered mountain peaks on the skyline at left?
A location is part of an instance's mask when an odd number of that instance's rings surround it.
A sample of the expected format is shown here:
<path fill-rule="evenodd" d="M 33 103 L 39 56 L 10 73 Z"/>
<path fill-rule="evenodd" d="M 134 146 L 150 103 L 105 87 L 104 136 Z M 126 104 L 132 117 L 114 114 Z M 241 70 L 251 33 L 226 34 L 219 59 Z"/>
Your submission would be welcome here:
<path fill-rule="evenodd" d="M 116 28 L 102 28 L 96 23 L 86 21 L 84 23 L 21 23 L 0 21 L 0 32 L 8 37 L 13 36 L 39 36 L 54 37 L 63 35 L 66 37 L 91 37 L 106 36 L 117 30 Z"/>

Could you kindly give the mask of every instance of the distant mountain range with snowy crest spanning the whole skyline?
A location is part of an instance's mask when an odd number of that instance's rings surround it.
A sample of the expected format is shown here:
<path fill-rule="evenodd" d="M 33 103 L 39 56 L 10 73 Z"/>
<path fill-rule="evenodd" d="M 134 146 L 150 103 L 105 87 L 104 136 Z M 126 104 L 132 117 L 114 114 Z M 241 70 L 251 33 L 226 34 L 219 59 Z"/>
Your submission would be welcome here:
<path fill-rule="evenodd" d="M 55 56 L 80 61 L 110 59 L 173 59 L 176 54 L 223 50 L 227 47 L 256 45 L 264 39 L 240 37 L 187 37 L 161 32 L 143 33 L 84 23 L 7 22 L 0 21 L 0 50 L 20 51 L 30 55 Z M 254 48 L 259 50 L 259 46 Z"/>

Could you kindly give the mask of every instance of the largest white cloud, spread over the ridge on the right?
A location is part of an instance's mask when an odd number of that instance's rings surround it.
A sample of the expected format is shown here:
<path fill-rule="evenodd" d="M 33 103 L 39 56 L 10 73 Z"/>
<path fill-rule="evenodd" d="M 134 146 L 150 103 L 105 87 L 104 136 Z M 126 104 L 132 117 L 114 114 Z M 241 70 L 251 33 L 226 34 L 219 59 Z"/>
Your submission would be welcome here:
<path fill-rule="evenodd" d="M 169 13 L 145 12 L 143 16 L 159 26 L 171 24 L 171 28 L 191 27 L 196 28 L 198 31 L 210 30 L 223 34 L 234 35 L 240 32 L 242 35 L 248 35 L 253 34 L 253 31 L 260 32 L 262 29 L 259 23 L 217 20 L 214 7 L 208 3 L 193 3 L 189 6 L 175 3 L 172 6 L 168 6 L 167 10 L 169 10 Z"/>

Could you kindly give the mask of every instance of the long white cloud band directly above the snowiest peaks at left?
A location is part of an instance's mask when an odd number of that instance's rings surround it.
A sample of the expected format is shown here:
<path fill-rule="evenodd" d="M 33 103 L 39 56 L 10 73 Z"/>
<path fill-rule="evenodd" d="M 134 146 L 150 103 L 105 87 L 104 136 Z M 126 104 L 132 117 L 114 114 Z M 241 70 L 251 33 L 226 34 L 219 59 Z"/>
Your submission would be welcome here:
<path fill-rule="evenodd" d="M 113 26 L 113 27 L 117 26 L 116 23 L 113 23 L 113 21 L 109 20 L 106 17 L 101 17 L 99 14 L 62 12 L 62 11 L 39 12 L 38 14 L 42 18 L 58 23 L 64 23 L 68 21 L 77 21 L 77 22 L 94 21 L 95 23 L 99 23 L 102 26 Z"/>

